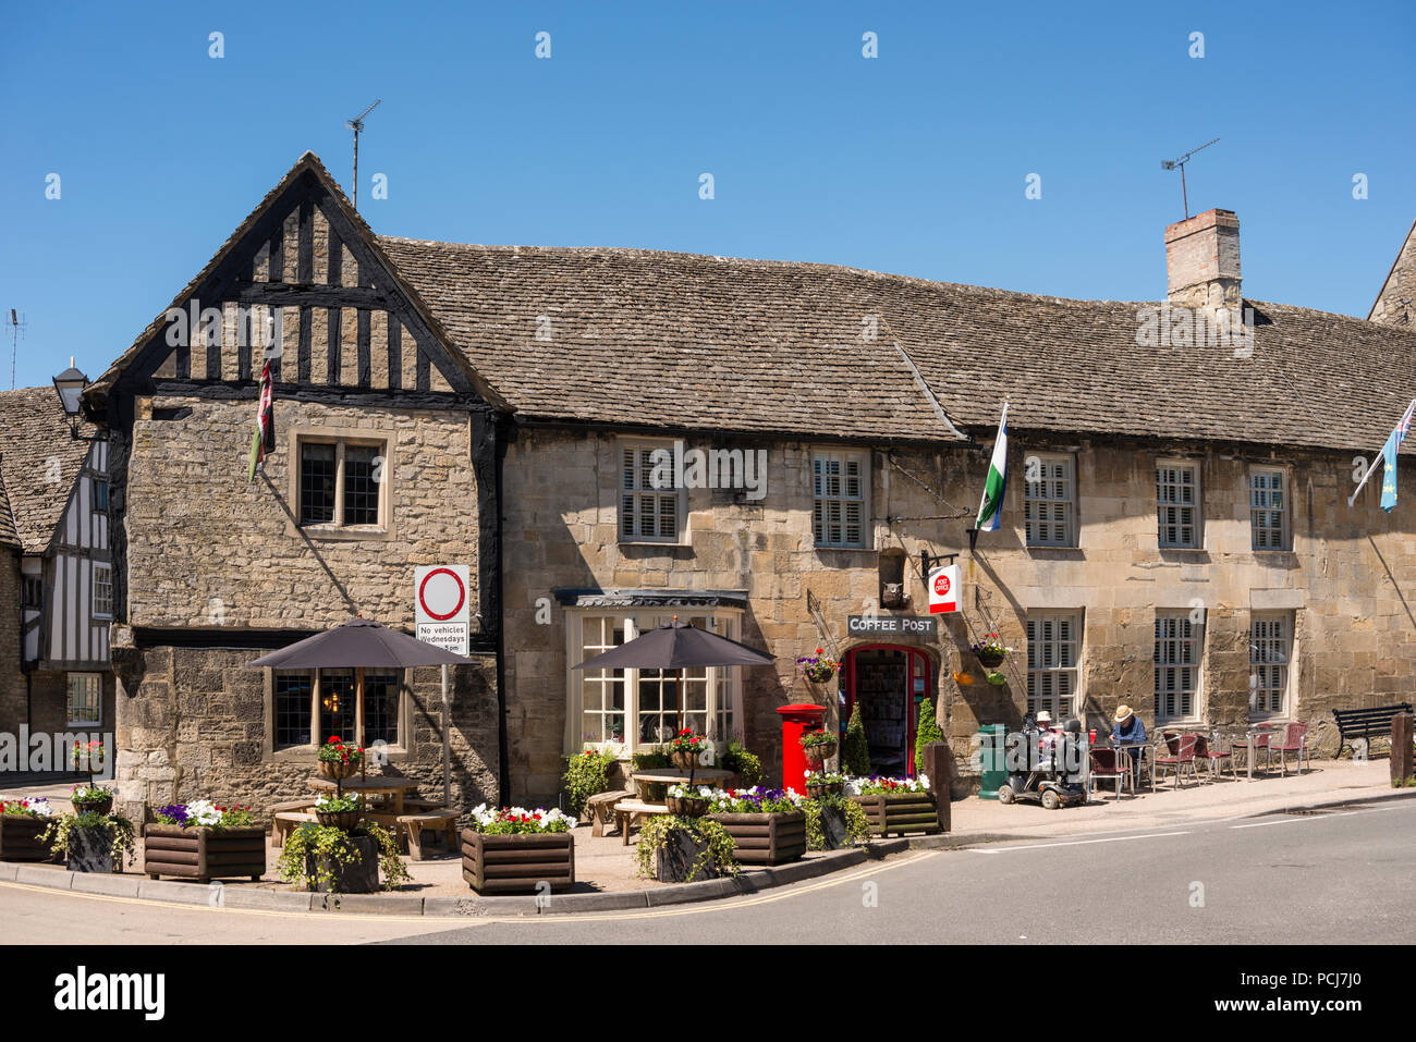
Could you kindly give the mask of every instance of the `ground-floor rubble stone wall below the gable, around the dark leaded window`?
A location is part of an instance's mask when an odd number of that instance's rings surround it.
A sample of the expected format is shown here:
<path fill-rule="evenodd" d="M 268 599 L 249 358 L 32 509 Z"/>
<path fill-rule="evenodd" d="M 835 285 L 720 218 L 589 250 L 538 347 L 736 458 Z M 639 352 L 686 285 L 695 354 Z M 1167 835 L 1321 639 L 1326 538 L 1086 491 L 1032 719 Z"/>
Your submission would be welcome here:
<path fill-rule="evenodd" d="M 310 794 L 313 750 L 270 748 L 265 671 L 246 665 L 259 655 L 248 648 L 115 647 L 127 691 L 115 780 L 135 820 L 142 820 L 143 803 L 194 798 L 249 804 L 268 820 L 272 803 Z M 497 699 L 489 677 L 496 677 L 489 658 L 452 670 L 452 796 L 463 810 L 497 801 Z M 412 670 L 406 682 L 411 748 L 392 753 L 382 773 L 418 779 L 419 793 L 440 801 L 440 670 Z"/>

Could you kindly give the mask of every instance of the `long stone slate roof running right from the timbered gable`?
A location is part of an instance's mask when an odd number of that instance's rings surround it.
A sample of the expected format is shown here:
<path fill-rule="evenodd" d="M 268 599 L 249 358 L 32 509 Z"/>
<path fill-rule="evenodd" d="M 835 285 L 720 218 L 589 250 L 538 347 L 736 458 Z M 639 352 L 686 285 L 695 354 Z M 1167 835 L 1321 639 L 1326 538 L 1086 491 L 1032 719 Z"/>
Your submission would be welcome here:
<path fill-rule="evenodd" d="M 1157 303 L 643 249 L 379 242 L 527 419 L 947 437 L 891 331 L 976 433 L 1011 398 L 1010 429 L 1372 450 L 1416 396 L 1416 336 L 1284 304 L 1246 302 L 1259 326 L 1235 358 L 1137 345 L 1137 311 Z M 867 316 L 884 320 L 874 341 Z"/>

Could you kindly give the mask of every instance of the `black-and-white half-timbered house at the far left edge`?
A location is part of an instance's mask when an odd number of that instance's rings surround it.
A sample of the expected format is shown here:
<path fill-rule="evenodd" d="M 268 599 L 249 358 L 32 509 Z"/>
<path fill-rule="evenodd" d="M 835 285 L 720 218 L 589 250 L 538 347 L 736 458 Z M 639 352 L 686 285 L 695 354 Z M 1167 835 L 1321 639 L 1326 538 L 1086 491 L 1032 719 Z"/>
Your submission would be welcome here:
<path fill-rule="evenodd" d="M 52 387 L 0 392 L 0 731 L 110 732 L 108 445 Z"/>

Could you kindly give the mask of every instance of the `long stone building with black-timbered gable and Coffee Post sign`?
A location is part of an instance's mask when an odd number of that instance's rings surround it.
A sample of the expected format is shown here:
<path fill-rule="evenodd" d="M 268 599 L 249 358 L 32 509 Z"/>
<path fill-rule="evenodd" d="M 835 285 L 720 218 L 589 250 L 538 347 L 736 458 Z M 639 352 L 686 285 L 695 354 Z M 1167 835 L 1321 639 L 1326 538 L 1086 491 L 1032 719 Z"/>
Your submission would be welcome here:
<path fill-rule="evenodd" d="M 433 563 L 470 565 L 477 610 L 462 806 L 554 803 L 568 753 L 680 723 L 770 766 L 797 701 L 860 701 L 892 772 L 923 698 L 964 774 L 980 723 L 1044 708 L 1335 743 L 1334 706 L 1413 687 L 1416 490 L 1347 498 L 1416 396 L 1416 336 L 1245 300 L 1229 211 L 1164 232 L 1153 303 L 453 245 L 374 235 L 307 154 L 85 396 L 113 445 L 125 796 L 295 794 L 348 733 L 348 678 L 245 663 L 353 612 L 411 627 Z M 261 330 L 278 447 L 248 486 Z M 1003 525 L 970 549 L 1004 401 Z M 922 552 L 957 555 L 959 613 L 929 619 Z M 674 614 L 779 667 L 681 692 L 572 668 Z M 969 650 L 988 633 L 1003 684 Z M 796 675 L 818 647 L 838 682 Z M 432 789 L 435 674 L 382 685 L 388 770 Z"/>

